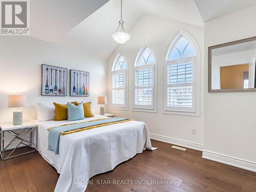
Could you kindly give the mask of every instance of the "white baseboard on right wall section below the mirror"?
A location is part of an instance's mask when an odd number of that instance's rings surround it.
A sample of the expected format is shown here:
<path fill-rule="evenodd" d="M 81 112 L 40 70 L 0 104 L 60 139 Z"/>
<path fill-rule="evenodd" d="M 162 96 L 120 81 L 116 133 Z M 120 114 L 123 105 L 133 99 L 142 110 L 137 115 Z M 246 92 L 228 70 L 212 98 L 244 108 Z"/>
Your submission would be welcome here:
<path fill-rule="evenodd" d="M 223 155 L 223 154 L 210 152 L 210 151 L 203 151 L 202 158 L 212 160 L 212 161 L 217 161 L 220 163 L 228 164 L 228 165 L 239 167 L 239 168 L 243 168 L 246 170 L 250 170 L 252 172 L 256 172 L 256 162 L 254 161 L 248 161 L 245 159 L 240 159 L 237 157 L 232 157 L 232 156 Z"/>

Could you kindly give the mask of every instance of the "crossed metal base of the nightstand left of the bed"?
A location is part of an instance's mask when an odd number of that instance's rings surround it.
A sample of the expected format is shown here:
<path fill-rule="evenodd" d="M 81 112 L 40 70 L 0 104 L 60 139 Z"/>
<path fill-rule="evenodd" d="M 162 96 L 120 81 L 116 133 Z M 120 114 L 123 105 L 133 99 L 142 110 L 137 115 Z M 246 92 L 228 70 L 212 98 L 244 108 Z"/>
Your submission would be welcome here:
<path fill-rule="evenodd" d="M 3 130 L 1 130 L 0 156 L 1 156 L 1 158 L 2 158 L 2 161 L 37 151 L 37 140 L 38 140 L 38 139 L 37 139 L 37 138 L 38 138 L 38 136 L 37 136 L 37 134 L 38 134 L 38 128 L 37 128 L 37 126 L 35 126 L 35 127 L 29 127 L 29 128 L 26 127 L 26 128 L 22 128 L 22 129 L 19 129 L 19 130 L 20 130 L 19 133 L 15 133 L 15 132 L 13 132 L 12 130 L 8 130 L 8 131 L 3 131 Z M 20 134 L 22 134 L 24 130 L 29 130 L 29 133 L 26 134 L 26 136 L 25 136 L 24 138 L 21 138 L 21 137 L 20 137 Z M 33 130 L 35 130 L 34 132 L 36 132 L 36 146 L 35 146 L 35 148 L 32 146 Z M 14 138 L 12 139 L 12 141 L 11 141 L 7 146 L 5 146 L 5 132 L 8 132 L 8 133 L 10 133 L 11 135 L 14 136 Z M 26 140 L 26 138 L 28 138 L 28 137 L 30 137 L 30 140 L 29 140 L 29 141 Z M 17 146 L 16 146 L 15 148 L 12 148 L 12 149 L 8 149 L 8 150 L 7 150 L 7 147 L 8 147 L 8 146 L 10 146 L 11 144 L 14 144 L 13 142 L 14 142 L 15 139 L 19 139 L 20 142 L 17 144 Z M 16 144 L 16 143 L 15 143 L 15 144 Z M 23 146 L 19 146 L 20 144 L 23 144 Z M 24 147 L 32 147 L 32 148 L 34 148 L 34 150 L 33 150 L 33 151 L 26 152 L 26 153 L 18 154 L 18 155 L 12 155 L 18 148 L 24 148 Z M 5 157 L 5 152 L 8 152 L 8 151 L 11 151 L 11 153 L 8 154 L 7 157 Z"/>

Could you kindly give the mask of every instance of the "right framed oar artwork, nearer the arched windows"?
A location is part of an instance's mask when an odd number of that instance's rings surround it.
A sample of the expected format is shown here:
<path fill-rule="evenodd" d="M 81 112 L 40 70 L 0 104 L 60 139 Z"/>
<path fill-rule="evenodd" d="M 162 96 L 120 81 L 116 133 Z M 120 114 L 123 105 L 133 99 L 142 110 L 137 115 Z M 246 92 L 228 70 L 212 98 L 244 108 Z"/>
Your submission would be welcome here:
<path fill-rule="evenodd" d="M 90 95 L 90 73 L 70 70 L 70 96 Z"/>

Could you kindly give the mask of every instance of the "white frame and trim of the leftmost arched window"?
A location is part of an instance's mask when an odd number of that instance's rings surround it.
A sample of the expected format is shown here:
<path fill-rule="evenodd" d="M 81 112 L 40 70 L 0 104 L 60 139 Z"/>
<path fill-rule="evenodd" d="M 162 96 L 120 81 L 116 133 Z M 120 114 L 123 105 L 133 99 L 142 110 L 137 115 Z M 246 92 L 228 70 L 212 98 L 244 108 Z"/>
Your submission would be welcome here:
<path fill-rule="evenodd" d="M 125 59 L 126 61 L 126 69 L 121 69 L 121 70 L 115 70 L 116 68 L 116 65 L 117 65 L 117 61 L 119 59 L 119 57 L 121 56 L 122 54 L 121 53 L 118 53 L 115 60 L 114 60 L 114 64 L 112 66 L 112 71 L 111 71 L 111 92 L 110 92 L 110 99 L 111 99 L 111 105 L 110 105 L 110 109 L 112 110 L 128 110 L 128 63 L 127 63 L 127 60 Z M 113 90 L 122 90 L 122 88 L 113 88 L 113 75 L 114 74 L 120 74 L 120 73 L 124 73 L 125 75 L 125 88 L 124 88 L 124 104 L 113 104 L 112 103 L 112 91 Z"/>

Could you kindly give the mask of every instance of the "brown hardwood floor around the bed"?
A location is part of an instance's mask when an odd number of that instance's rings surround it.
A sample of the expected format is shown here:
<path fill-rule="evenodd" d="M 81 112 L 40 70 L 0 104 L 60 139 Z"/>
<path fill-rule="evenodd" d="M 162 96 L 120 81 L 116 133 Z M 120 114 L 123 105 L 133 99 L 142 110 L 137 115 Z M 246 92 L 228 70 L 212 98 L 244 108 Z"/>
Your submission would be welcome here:
<path fill-rule="evenodd" d="M 254 172 L 202 159 L 199 151 L 183 152 L 155 140 L 152 145 L 159 149 L 144 151 L 111 172 L 91 178 L 86 192 L 256 191 Z M 53 191 L 58 177 L 56 170 L 37 152 L 0 162 L 0 191 Z M 166 183 L 158 184 L 161 181 Z M 100 182 L 106 184 L 97 184 Z"/>

